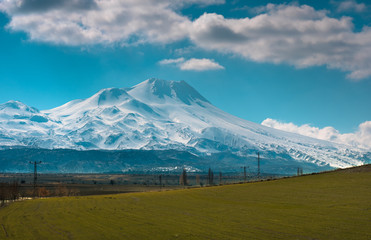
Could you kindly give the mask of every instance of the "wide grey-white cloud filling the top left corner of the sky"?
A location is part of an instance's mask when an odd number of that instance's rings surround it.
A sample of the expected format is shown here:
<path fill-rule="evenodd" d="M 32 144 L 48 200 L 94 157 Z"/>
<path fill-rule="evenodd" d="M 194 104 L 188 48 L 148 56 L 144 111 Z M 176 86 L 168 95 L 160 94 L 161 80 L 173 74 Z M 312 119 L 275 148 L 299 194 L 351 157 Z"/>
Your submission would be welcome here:
<path fill-rule="evenodd" d="M 12 30 L 64 45 L 169 43 L 187 37 L 191 24 L 164 0 L 7 0 L 0 10 Z"/>

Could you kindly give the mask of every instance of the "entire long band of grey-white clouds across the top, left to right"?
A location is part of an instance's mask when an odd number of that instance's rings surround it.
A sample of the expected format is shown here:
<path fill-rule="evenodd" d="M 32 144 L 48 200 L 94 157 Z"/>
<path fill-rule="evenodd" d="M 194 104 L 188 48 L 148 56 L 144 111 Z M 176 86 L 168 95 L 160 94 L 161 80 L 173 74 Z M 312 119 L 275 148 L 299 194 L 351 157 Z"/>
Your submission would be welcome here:
<path fill-rule="evenodd" d="M 167 44 L 190 39 L 195 46 L 231 53 L 256 62 L 298 68 L 325 65 L 349 72 L 351 79 L 371 76 L 371 27 L 354 31 L 350 17 L 332 18 L 308 5 L 268 4 L 252 18 L 205 13 L 195 20 L 181 14 L 189 4 L 224 0 L 2 0 L 8 27 L 31 40 L 64 45 Z M 361 10 L 355 1 L 342 2 Z M 215 65 L 214 65 L 215 66 Z"/>

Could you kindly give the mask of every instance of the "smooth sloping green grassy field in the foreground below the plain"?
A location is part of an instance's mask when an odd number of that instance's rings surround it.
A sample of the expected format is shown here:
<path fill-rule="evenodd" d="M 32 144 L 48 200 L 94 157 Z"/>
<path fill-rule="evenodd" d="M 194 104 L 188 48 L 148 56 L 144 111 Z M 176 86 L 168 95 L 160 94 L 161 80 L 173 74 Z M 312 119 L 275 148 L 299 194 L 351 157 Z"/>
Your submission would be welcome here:
<path fill-rule="evenodd" d="M 370 166 L 0 209 L 0 239 L 371 239 Z"/>

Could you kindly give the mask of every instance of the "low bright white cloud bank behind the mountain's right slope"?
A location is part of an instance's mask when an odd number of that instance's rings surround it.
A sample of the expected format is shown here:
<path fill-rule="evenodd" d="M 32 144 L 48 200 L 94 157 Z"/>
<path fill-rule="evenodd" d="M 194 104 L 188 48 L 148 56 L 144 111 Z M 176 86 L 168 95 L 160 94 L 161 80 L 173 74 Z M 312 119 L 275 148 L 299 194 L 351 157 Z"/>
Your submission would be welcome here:
<path fill-rule="evenodd" d="M 345 134 L 341 134 L 333 127 L 318 128 L 309 124 L 298 126 L 293 123 L 283 123 L 271 118 L 265 119 L 261 124 L 286 132 L 298 133 L 312 138 L 371 150 L 371 121 L 361 123 L 356 132 Z"/>

